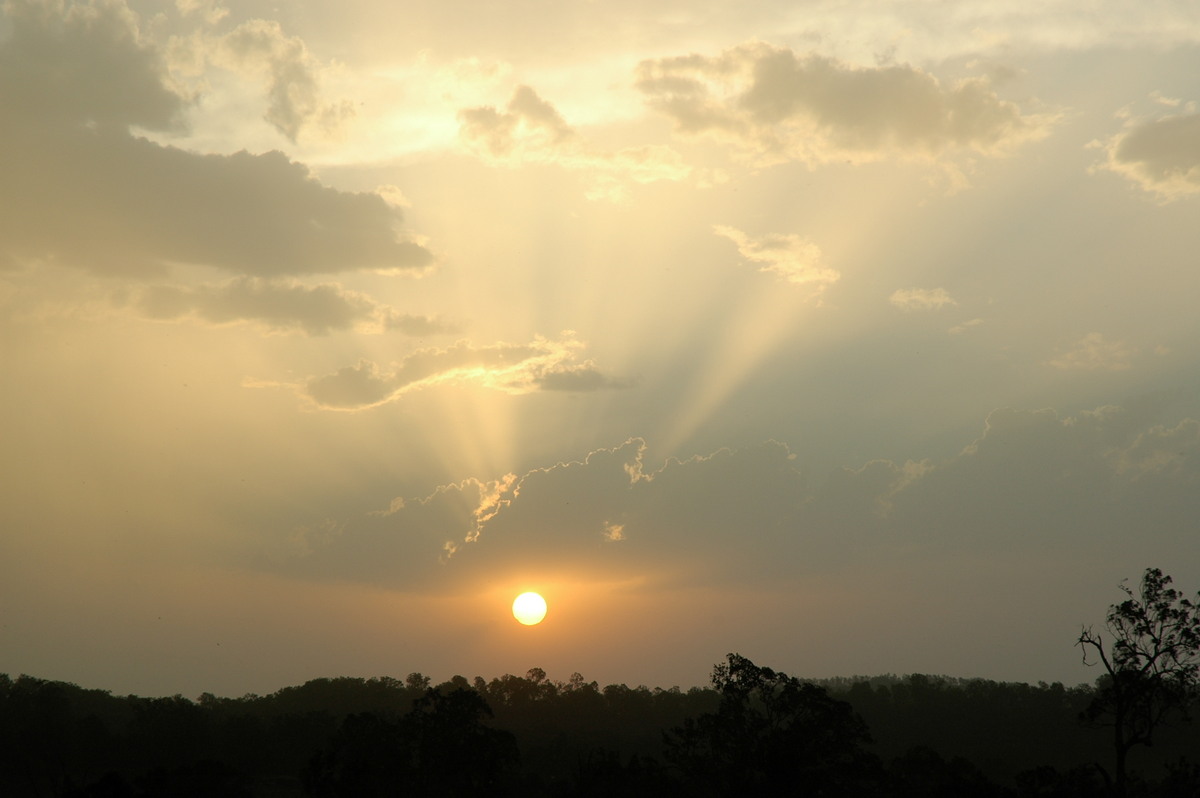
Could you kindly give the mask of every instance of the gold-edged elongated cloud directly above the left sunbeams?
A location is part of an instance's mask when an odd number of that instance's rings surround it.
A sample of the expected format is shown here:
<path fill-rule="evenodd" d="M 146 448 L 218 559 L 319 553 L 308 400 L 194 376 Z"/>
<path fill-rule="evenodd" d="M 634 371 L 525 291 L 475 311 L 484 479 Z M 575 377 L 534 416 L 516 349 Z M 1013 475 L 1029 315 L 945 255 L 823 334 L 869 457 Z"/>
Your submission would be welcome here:
<path fill-rule="evenodd" d="M 398 400 L 438 383 L 469 383 L 509 394 L 535 390 L 593 391 L 625 388 L 628 382 L 599 372 L 592 361 L 575 362 L 578 341 L 536 338 L 532 343 L 476 347 L 466 341 L 444 349 L 421 349 L 385 371 L 362 360 L 332 374 L 314 377 L 301 394 L 318 407 L 360 410 Z"/>

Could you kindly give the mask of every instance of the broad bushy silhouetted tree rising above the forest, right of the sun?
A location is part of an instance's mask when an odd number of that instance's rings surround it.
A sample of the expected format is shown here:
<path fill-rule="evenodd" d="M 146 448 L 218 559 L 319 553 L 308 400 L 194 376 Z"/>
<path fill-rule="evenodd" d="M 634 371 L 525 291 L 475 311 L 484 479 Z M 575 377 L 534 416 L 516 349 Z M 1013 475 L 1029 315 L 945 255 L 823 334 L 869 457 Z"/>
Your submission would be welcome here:
<path fill-rule="evenodd" d="M 738 654 L 713 668 L 715 713 L 668 733 L 667 760 L 692 794 L 863 794 L 876 770 L 866 725 L 823 688 Z"/>

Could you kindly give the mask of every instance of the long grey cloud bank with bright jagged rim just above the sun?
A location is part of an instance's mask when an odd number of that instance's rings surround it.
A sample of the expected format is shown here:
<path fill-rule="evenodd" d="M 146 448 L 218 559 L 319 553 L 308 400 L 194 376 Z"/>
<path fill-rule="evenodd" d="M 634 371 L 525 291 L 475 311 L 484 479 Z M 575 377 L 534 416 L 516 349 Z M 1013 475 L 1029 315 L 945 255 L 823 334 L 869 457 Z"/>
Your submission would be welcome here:
<path fill-rule="evenodd" d="M 286 566 L 443 586 L 514 568 L 764 583 L 847 560 L 980 544 L 1001 552 L 1016 540 L 1069 558 L 1100 540 L 1177 550 L 1200 511 L 1200 424 L 1147 424 L 1116 407 L 1066 418 L 1001 409 L 944 462 L 880 460 L 822 480 L 776 442 L 658 467 L 646 451 L 634 438 L 580 461 L 396 500 Z"/>

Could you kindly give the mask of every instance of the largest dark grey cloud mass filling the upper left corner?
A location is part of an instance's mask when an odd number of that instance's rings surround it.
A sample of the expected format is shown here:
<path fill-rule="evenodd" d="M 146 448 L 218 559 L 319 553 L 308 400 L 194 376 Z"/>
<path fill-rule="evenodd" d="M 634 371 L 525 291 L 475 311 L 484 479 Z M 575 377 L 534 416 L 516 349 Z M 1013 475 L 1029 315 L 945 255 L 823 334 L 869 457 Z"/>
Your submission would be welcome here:
<path fill-rule="evenodd" d="M 121 2 L 6 6 L 0 260 L 107 275 L 204 264 L 253 276 L 432 264 L 374 193 L 318 182 L 280 152 L 198 155 L 134 137 L 179 128 L 185 101 Z"/>

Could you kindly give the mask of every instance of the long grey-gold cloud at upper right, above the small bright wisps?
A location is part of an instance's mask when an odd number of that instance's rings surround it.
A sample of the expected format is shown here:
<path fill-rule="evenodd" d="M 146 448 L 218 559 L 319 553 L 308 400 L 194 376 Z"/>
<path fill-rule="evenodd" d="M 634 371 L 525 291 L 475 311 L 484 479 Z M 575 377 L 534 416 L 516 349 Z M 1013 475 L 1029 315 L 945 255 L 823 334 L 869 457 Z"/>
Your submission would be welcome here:
<path fill-rule="evenodd" d="M 1052 121 L 1022 114 L 986 78 L 942 85 L 913 66 L 857 67 L 761 42 L 642 61 L 637 88 L 680 133 L 727 142 L 761 164 L 996 156 Z"/>

